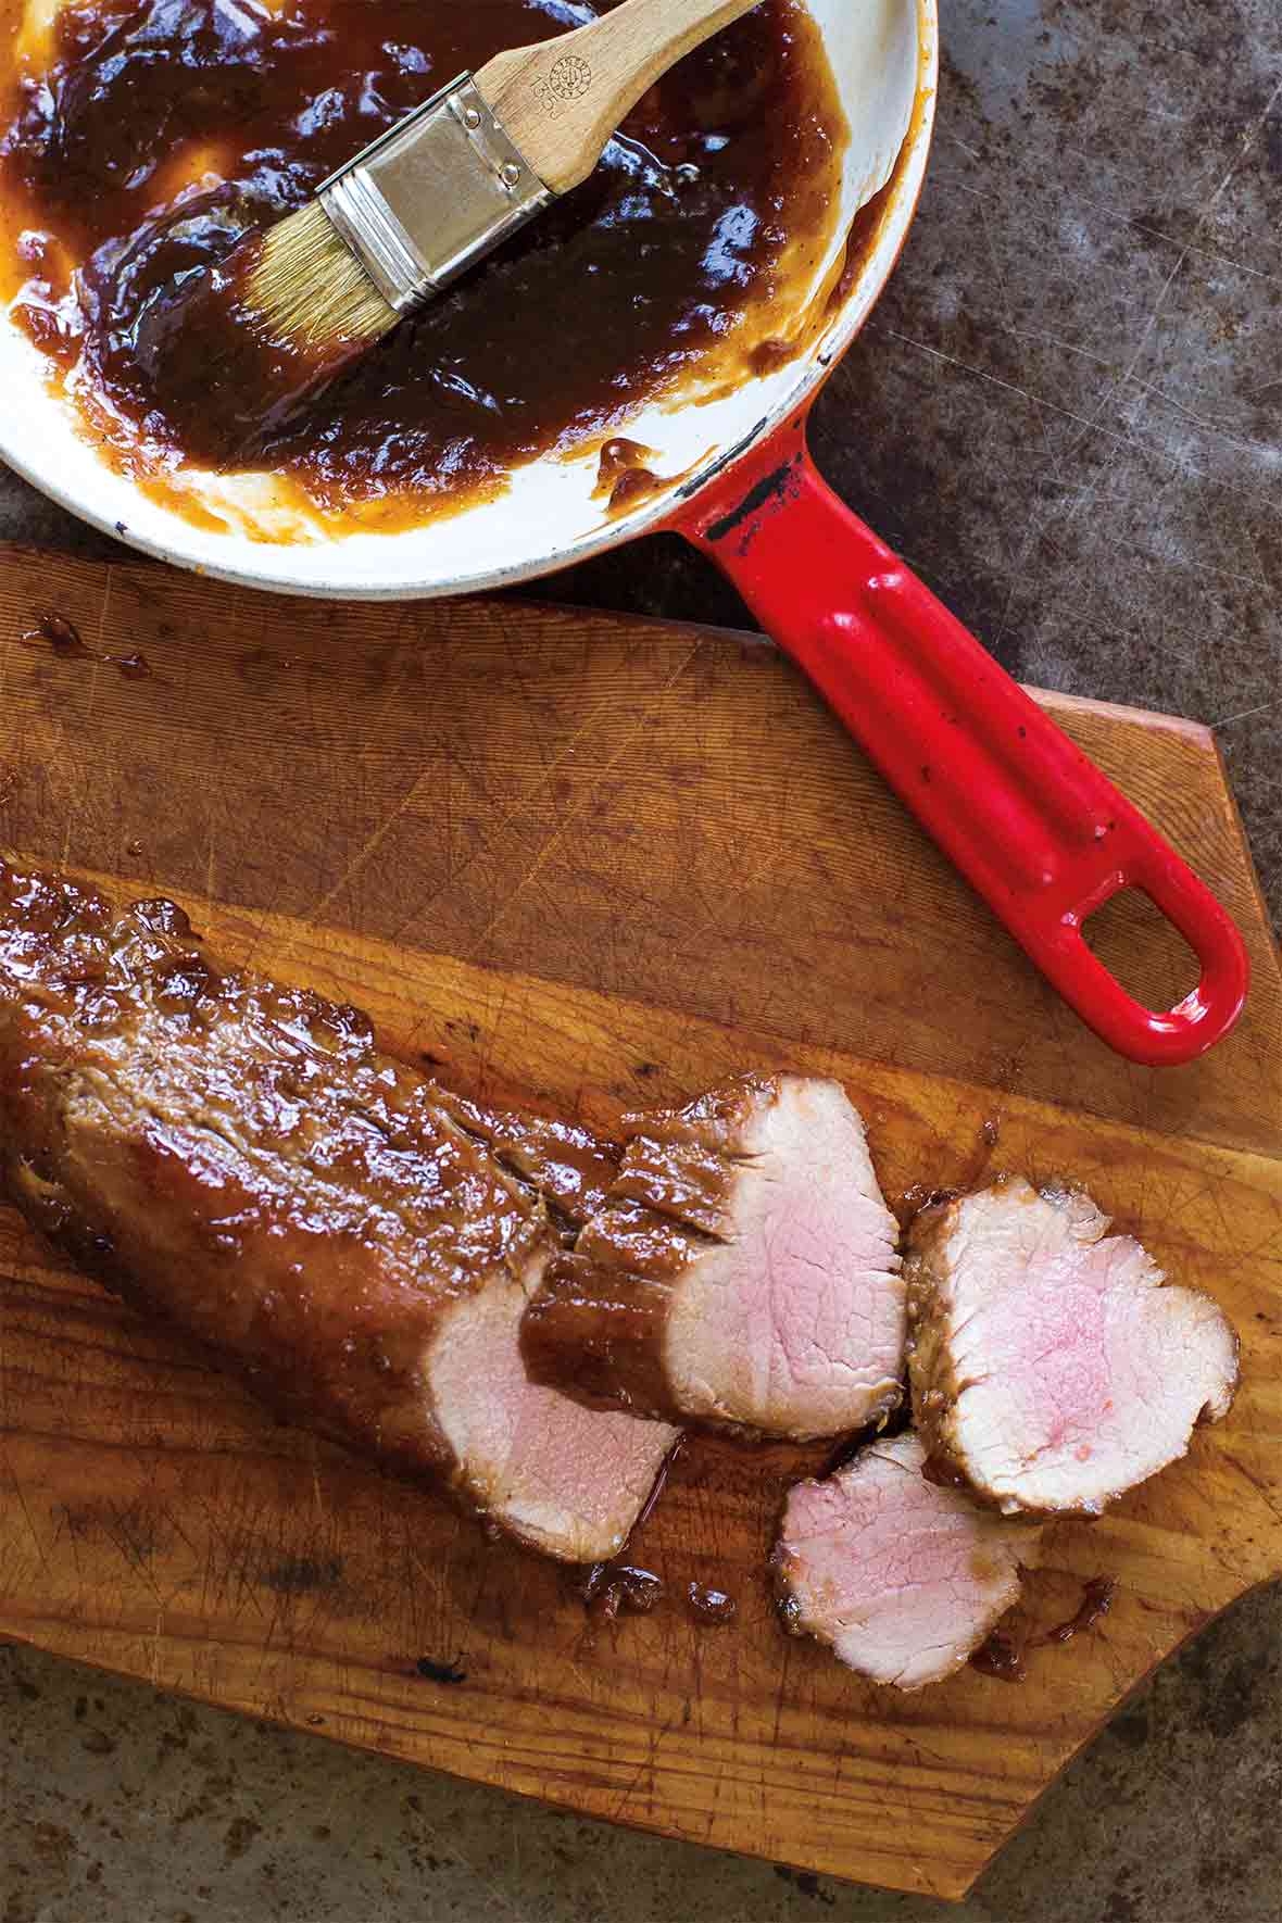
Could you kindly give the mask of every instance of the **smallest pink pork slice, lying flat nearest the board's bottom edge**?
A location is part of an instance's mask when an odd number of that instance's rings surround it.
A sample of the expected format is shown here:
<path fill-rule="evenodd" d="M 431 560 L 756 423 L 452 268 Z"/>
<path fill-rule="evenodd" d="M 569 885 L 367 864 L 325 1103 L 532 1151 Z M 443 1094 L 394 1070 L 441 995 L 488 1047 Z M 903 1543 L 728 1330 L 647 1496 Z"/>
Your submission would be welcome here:
<path fill-rule="evenodd" d="M 798 1483 L 775 1550 L 788 1629 L 905 1690 L 967 1661 L 1038 1552 L 1036 1527 L 1001 1521 L 925 1467 L 913 1435 L 871 1442 L 826 1481 Z"/>

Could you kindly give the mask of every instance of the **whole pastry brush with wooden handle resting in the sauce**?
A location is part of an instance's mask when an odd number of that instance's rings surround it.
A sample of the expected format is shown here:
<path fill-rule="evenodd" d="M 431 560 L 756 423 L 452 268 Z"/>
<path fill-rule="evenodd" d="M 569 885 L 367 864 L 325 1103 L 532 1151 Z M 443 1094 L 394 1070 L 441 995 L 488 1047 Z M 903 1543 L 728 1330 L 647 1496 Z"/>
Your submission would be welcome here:
<path fill-rule="evenodd" d="M 623 0 L 459 75 L 254 238 L 238 321 L 325 377 L 586 181 L 642 94 L 757 4 Z"/>

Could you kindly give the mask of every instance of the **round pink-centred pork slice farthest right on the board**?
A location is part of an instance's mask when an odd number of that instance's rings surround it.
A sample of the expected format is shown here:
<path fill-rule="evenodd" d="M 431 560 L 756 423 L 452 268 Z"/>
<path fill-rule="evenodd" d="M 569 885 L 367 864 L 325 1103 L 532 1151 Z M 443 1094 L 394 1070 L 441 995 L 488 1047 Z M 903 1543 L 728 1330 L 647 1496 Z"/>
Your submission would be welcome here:
<path fill-rule="evenodd" d="M 1009 1515 L 1097 1515 L 1228 1411 L 1238 1340 L 1088 1194 L 1023 1179 L 909 1236 L 913 1411 L 940 1473 Z"/>

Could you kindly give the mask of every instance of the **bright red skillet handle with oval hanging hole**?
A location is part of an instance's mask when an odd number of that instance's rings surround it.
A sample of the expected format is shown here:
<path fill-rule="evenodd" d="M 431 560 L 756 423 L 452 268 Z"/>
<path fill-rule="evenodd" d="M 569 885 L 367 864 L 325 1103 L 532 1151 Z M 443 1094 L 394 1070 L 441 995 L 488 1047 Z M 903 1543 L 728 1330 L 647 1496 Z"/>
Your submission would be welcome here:
<path fill-rule="evenodd" d="M 727 571 L 917 819 L 1096 1035 L 1192 1061 L 1242 1013 L 1238 929 L 1174 848 L 821 481 L 794 419 L 677 527 Z M 1178 1008 L 1136 1002 L 1082 923 L 1142 888 L 1201 963 Z"/>

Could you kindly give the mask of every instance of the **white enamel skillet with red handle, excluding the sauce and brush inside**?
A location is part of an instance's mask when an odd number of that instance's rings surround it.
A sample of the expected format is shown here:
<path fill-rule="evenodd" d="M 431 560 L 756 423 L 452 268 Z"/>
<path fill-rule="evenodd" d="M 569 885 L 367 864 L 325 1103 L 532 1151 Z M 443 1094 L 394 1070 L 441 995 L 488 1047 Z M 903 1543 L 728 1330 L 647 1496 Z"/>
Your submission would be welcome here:
<path fill-rule="evenodd" d="M 148 554 L 290 594 L 471 594 L 675 529 L 732 577 L 1082 1019 L 1134 1061 L 1190 1061 L 1232 1029 L 1245 1000 L 1245 950 L 1232 921 L 809 462 L 809 406 L 875 306 L 913 219 L 934 121 L 938 13 L 936 0 L 807 4 L 853 138 L 832 248 L 798 294 L 800 308 L 830 283 L 857 210 L 892 173 L 894 185 L 859 271 L 803 358 L 717 400 L 655 406 L 627 423 L 629 437 L 655 450 L 657 475 L 682 475 L 678 488 L 604 517 L 590 452 L 534 462 L 500 500 L 456 519 L 342 540 L 294 519 L 281 523 L 283 538 L 263 540 L 269 488 L 252 498 L 248 483 L 210 479 L 202 506 L 225 531 L 206 531 L 96 458 L 35 348 L 4 319 L 0 456 Z M 1128 887 L 1157 902 L 1201 963 L 1197 988 L 1172 1010 L 1136 1002 L 1084 940 L 1084 921 Z"/>

